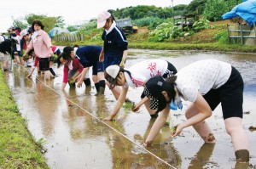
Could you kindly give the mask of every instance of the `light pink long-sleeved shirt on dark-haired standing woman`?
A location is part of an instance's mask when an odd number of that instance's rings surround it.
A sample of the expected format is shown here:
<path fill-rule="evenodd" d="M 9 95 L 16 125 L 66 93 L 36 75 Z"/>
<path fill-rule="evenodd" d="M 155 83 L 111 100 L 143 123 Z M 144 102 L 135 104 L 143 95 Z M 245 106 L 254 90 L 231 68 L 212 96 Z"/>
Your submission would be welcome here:
<path fill-rule="evenodd" d="M 38 35 L 32 38 L 27 46 L 30 50 L 34 48 L 35 54 L 39 58 L 49 58 L 53 54 L 50 47 L 52 47 L 52 44 L 49 35 L 43 30 L 38 31 Z"/>

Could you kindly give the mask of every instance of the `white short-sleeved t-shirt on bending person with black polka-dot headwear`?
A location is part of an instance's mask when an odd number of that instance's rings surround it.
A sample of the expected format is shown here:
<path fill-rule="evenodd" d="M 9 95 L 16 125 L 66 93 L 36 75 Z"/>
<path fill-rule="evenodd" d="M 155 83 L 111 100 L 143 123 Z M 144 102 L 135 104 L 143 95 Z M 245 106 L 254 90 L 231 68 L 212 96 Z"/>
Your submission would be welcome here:
<path fill-rule="evenodd" d="M 197 93 L 205 95 L 228 81 L 231 65 L 216 59 L 204 59 L 183 67 L 177 72 L 177 89 L 183 99 L 195 102 Z"/>

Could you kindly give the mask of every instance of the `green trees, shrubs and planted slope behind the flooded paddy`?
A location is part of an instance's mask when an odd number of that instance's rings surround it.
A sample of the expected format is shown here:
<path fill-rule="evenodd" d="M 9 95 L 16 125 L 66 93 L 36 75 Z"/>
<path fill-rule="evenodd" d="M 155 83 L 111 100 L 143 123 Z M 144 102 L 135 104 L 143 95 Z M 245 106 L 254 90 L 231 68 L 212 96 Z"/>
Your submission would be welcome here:
<path fill-rule="evenodd" d="M 184 45 L 186 43 L 196 44 L 196 48 L 191 45 L 185 45 L 190 49 L 198 49 L 200 46 L 204 48 L 207 43 L 209 50 L 241 50 L 246 51 L 248 47 L 241 48 L 226 48 L 223 44 L 228 45 L 226 24 L 232 23 L 222 22 L 221 16 L 229 12 L 241 0 L 193 0 L 188 5 L 179 4 L 177 6 L 170 6 L 160 8 L 145 5 L 138 5 L 136 7 L 108 9 L 108 12 L 113 14 L 116 20 L 130 18 L 133 25 L 138 26 L 138 31 L 135 34 L 127 35 L 129 46 L 134 48 L 142 48 L 143 44 L 147 43 L 147 47 L 151 48 L 166 48 L 165 42 L 168 42 L 170 48 L 173 49 L 172 43 Z M 194 25 L 184 27 L 181 30 L 177 22 L 181 20 L 173 20 L 176 15 L 195 14 L 197 20 Z M 42 20 L 45 25 L 45 31 L 51 30 L 55 26 L 64 27 L 64 20 L 61 16 L 49 17 L 47 15 L 27 14 L 22 20 L 14 20 L 14 25 L 24 28 L 31 25 L 32 20 Z M 188 19 L 193 20 L 193 19 Z M 233 20 L 235 23 L 241 23 L 241 19 Z M 145 29 L 146 28 L 146 29 Z M 58 45 L 66 44 L 98 44 L 102 45 L 102 29 L 96 29 L 96 18 L 92 18 L 84 25 L 67 25 L 67 30 L 73 31 L 74 34 L 83 35 L 82 42 L 55 42 Z M 53 39 L 54 40 L 54 39 Z M 139 42 L 143 42 L 138 44 Z M 152 44 L 151 44 L 152 43 Z M 202 44 L 204 43 L 204 44 Z M 209 48 L 212 44 L 212 48 Z M 214 44 L 213 44 L 214 43 Z M 179 46 L 180 46 L 179 45 Z M 234 44 L 230 44 L 233 45 Z M 218 46 L 218 48 L 216 48 Z M 225 47 L 225 48 L 224 48 Z M 145 47 L 144 47 L 145 48 Z M 248 52 L 255 51 L 255 48 L 249 48 Z M 240 51 L 241 52 L 241 51 Z"/>

